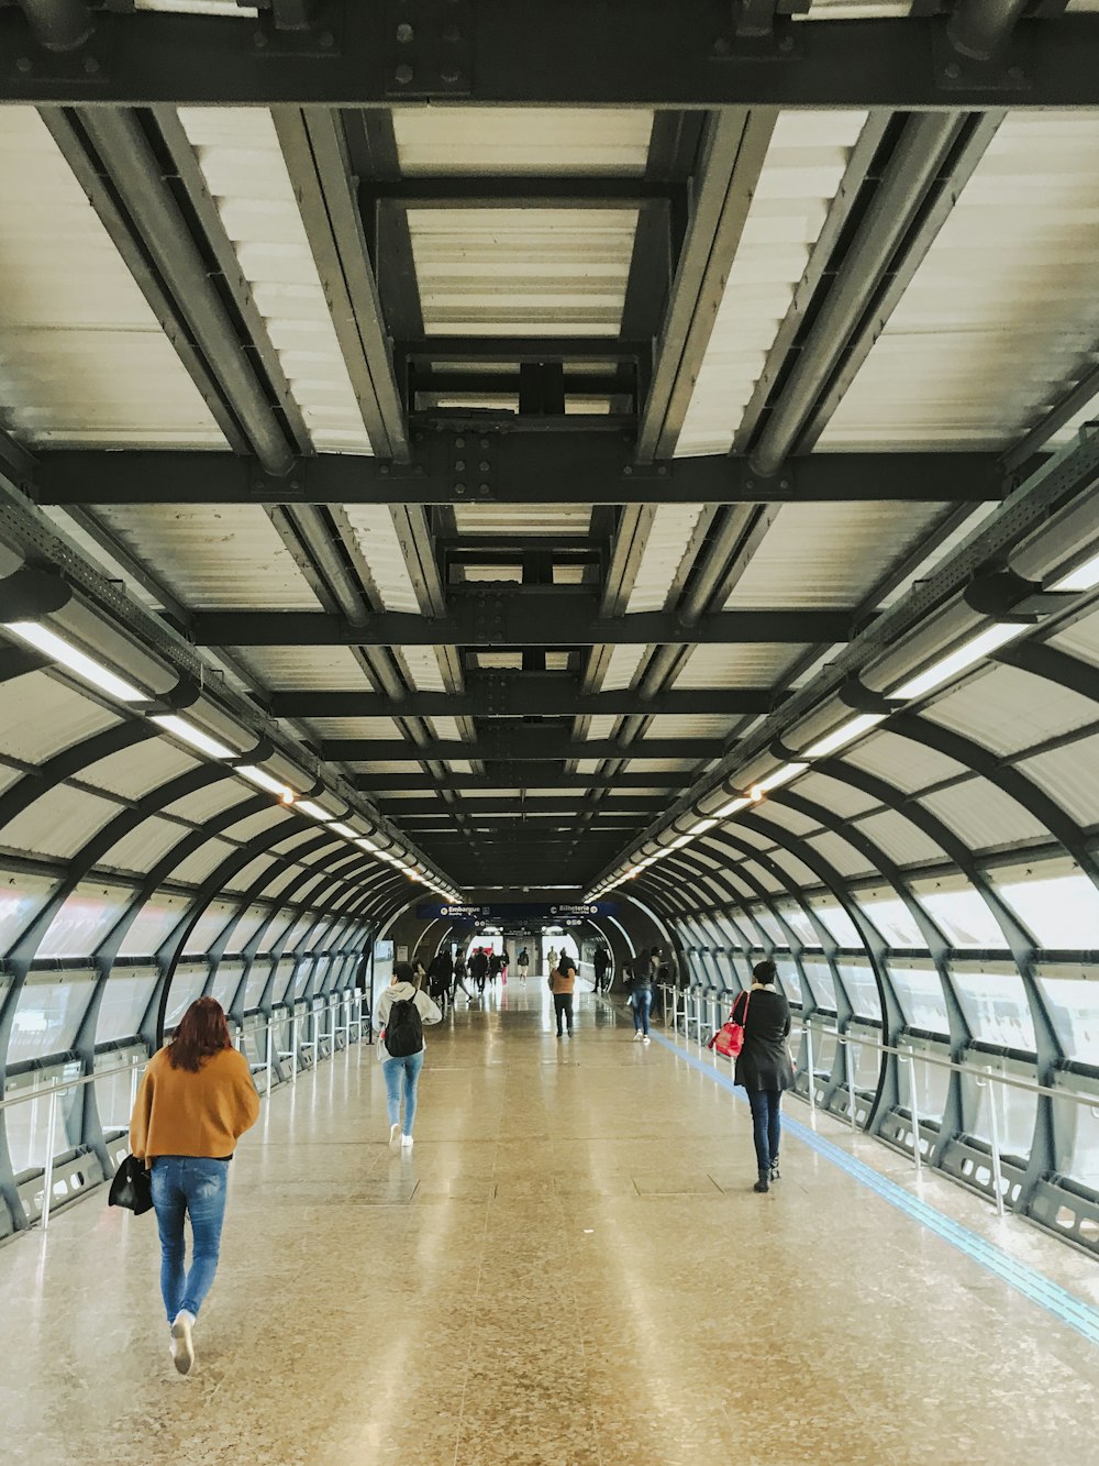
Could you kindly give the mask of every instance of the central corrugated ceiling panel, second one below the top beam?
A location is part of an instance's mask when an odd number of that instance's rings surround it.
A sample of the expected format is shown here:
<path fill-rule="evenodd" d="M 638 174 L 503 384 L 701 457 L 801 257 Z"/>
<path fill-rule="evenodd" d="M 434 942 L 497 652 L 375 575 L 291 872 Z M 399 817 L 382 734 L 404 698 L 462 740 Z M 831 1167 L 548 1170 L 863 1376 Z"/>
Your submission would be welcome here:
<path fill-rule="evenodd" d="M 431 334 L 614 336 L 636 210 L 407 211 Z"/>

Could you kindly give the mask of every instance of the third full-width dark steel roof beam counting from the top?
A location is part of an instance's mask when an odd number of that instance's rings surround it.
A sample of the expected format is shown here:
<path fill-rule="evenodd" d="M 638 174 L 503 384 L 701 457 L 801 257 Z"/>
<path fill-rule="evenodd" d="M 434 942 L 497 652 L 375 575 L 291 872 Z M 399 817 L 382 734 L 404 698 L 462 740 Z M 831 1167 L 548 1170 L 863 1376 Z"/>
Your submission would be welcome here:
<path fill-rule="evenodd" d="M 848 611 L 712 611 L 687 626 L 674 611 L 599 619 L 588 595 L 453 595 L 450 614 L 378 611 L 362 625 L 324 611 L 201 611 L 188 625 L 199 647 L 646 647 L 651 642 L 841 642 Z"/>

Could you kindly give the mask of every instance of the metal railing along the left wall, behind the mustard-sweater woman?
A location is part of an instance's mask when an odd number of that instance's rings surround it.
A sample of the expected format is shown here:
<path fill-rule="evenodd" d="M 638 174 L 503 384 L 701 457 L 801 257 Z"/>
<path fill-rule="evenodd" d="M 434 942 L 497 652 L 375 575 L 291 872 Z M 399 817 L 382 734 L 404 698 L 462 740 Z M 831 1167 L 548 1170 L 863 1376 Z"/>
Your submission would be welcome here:
<path fill-rule="evenodd" d="M 344 1045 L 349 1045 L 352 1042 L 350 1036 L 352 1031 L 355 1031 L 356 1041 L 360 1042 L 362 1028 L 363 1023 L 366 1022 L 362 1013 L 363 1007 L 362 997 L 363 997 L 362 992 L 356 988 L 355 992 L 352 994 L 343 992 L 334 995 L 331 1001 L 325 1003 L 319 1009 L 308 1009 L 305 1013 L 299 1013 L 297 1009 L 295 1009 L 293 1013 L 290 1014 L 283 1014 L 281 1017 L 268 1017 L 267 1023 L 264 1023 L 262 1028 L 259 1025 L 251 1028 L 246 1028 L 245 1025 L 236 1025 L 237 1032 L 236 1032 L 234 1047 L 237 1048 L 237 1051 L 243 1051 L 246 1038 L 251 1038 L 252 1035 L 262 1035 L 264 1063 L 258 1066 L 249 1066 L 252 1069 L 254 1080 L 256 1075 L 265 1076 L 262 1089 L 256 1083 L 256 1091 L 259 1094 L 259 1098 L 261 1100 L 267 1098 L 271 1094 L 271 1089 L 274 1088 L 275 1056 L 280 1060 L 283 1058 L 293 1060 L 290 1069 L 290 1080 L 289 1080 L 293 1085 L 297 1083 L 299 1054 L 302 1050 L 312 1050 L 312 1063 L 315 1064 L 317 1058 L 319 1057 L 321 1044 L 325 1042 L 325 1039 L 328 1041 L 330 1045 L 328 1053 L 331 1056 L 336 1054 L 336 1038 L 338 1034 L 343 1034 Z M 338 1009 L 344 1010 L 341 1022 L 337 1022 Z M 283 1028 L 287 1023 L 287 1017 L 292 1029 L 290 1048 L 275 1050 L 274 1031 L 277 1028 Z M 314 1038 L 302 1039 L 299 1042 L 297 1026 L 300 1019 L 303 1017 L 314 1020 Z M 325 1017 L 328 1019 L 327 1035 L 324 1032 Z M 40 1212 L 42 1231 L 47 1231 L 50 1227 L 50 1211 L 53 1207 L 53 1173 L 54 1173 L 54 1151 L 57 1141 L 57 1101 L 62 1098 L 62 1095 L 67 1094 L 69 1091 L 81 1089 L 84 1088 L 84 1085 L 94 1085 L 98 1083 L 101 1079 L 113 1079 L 117 1075 L 129 1075 L 130 1114 L 132 1114 L 135 1101 L 138 1098 L 138 1079 L 141 1076 L 141 1072 L 148 1064 L 148 1061 L 149 1056 L 135 1054 L 129 1064 L 117 1064 L 114 1069 L 100 1069 L 92 1072 L 91 1075 L 78 1075 L 73 1079 L 54 1078 L 48 1082 L 48 1085 L 41 1085 L 38 1088 L 28 1089 L 25 1094 L 10 1095 L 7 1098 L 0 1100 L 0 1111 L 13 1110 L 16 1105 L 34 1104 L 41 1100 L 48 1100 L 50 1102 L 50 1111 L 47 1116 L 47 1127 L 45 1127 L 45 1164 L 42 1167 L 42 1207 Z"/>

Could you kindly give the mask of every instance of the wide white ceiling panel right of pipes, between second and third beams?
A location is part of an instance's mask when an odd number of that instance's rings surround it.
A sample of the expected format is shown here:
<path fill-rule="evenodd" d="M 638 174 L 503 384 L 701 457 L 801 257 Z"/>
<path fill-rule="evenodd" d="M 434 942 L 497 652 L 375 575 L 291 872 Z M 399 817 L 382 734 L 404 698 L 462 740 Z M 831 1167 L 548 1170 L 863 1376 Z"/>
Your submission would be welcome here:
<path fill-rule="evenodd" d="M 784 504 L 725 608 L 854 607 L 941 515 L 941 504 Z"/>

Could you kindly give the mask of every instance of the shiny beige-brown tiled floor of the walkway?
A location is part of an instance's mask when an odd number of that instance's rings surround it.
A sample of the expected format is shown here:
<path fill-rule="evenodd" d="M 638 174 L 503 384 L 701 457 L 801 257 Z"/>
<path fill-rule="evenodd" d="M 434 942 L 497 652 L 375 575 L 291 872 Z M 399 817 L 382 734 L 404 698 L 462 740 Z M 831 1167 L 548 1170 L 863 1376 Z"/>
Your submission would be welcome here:
<path fill-rule="evenodd" d="M 152 1217 L 0 1249 L 0 1460 L 1099 1462 L 1093 1344 L 793 1136 L 755 1195 L 747 1107 L 610 1004 L 558 1042 L 532 979 L 428 1039 L 409 1160 L 372 1050 L 271 1098 L 190 1378 Z M 1099 1302 L 1092 1259 L 920 1195 Z"/>

